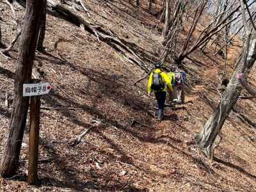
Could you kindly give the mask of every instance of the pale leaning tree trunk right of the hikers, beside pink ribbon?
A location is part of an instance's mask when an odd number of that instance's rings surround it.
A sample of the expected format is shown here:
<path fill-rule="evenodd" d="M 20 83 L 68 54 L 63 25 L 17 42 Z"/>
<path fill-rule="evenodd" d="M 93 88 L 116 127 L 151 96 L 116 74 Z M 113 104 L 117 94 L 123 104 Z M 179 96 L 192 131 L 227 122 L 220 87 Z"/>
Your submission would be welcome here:
<path fill-rule="evenodd" d="M 248 37 L 250 39 L 250 35 Z M 241 94 L 241 84 L 239 83 L 239 79 L 237 79 L 237 73 L 242 72 L 244 73 L 244 80 L 248 77 L 248 73 L 253 66 L 253 63 L 256 60 L 256 37 L 253 36 L 253 40 L 249 43 L 250 40 L 247 41 L 247 45 L 245 49 L 248 48 L 248 56 L 246 56 L 247 62 L 244 60 L 239 60 L 239 64 L 237 65 L 236 70 L 232 74 L 230 79 L 230 83 L 223 92 L 221 96 L 221 102 L 218 105 L 217 109 L 211 115 L 209 120 L 207 120 L 206 124 L 202 131 L 195 136 L 196 143 L 198 143 L 199 147 L 205 152 L 205 155 L 209 158 L 213 155 L 212 145 L 216 139 L 216 136 L 221 130 L 226 118 L 228 117 L 231 109 L 236 104 L 239 95 Z M 246 51 L 244 51 L 246 52 Z"/>

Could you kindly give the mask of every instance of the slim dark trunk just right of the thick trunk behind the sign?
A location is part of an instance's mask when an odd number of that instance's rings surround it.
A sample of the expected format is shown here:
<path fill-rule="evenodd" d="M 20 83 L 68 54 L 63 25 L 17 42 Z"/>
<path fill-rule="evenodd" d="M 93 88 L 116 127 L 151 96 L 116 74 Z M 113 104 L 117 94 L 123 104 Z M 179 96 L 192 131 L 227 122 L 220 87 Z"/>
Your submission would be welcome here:
<path fill-rule="evenodd" d="M 37 47 L 38 51 L 44 51 L 44 36 L 45 36 L 45 23 L 46 23 L 46 0 L 42 0 L 43 4 L 43 12 L 42 12 L 42 20 L 40 24 L 40 31 L 37 40 Z"/>

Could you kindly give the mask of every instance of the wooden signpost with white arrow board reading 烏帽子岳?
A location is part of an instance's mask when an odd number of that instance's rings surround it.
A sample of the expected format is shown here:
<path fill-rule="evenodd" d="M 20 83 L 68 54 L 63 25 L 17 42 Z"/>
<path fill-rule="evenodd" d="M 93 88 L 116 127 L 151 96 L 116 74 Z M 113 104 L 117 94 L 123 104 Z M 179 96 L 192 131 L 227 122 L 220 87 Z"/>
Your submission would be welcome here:
<path fill-rule="evenodd" d="M 31 84 L 23 84 L 23 97 L 30 97 L 30 132 L 28 157 L 28 183 L 36 184 L 38 170 L 38 141 L 40 128 L 40 95 L 51 90 L 49 83 L 33 79 Z"/>

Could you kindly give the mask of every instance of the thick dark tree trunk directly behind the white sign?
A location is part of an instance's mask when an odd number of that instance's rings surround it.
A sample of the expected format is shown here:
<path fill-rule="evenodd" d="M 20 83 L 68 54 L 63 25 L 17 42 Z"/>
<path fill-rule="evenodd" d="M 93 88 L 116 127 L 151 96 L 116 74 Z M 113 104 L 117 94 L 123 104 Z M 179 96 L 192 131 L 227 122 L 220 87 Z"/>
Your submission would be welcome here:
<path fill-rule="evenodd" d="M 42 13 L 42 1 L 27 1 L 19 58 L 16 64 L 15 99 L 13 101 L 10 133 L 0 165 L 0 175 L 2 177 L 12 177 L 15 175 L 19 162 L 20 147 L 29 104 L 29 98 L 22 97 L 22 86 L 24 83 L 31 82 L 31 72 L 36 49 L 35 40 L 38 38 Z"/>

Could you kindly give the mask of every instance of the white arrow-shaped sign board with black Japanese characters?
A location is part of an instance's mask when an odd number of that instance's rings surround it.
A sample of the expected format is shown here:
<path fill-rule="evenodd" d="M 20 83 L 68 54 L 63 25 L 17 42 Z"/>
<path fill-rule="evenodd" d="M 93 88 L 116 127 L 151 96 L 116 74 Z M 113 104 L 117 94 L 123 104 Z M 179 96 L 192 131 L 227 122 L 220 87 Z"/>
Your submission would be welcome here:
<path fill-rule="evenodd" d="M 23 97 L 45 95 L 51 90 L 49 83 L 30 83 L 23 84 Z"/>

